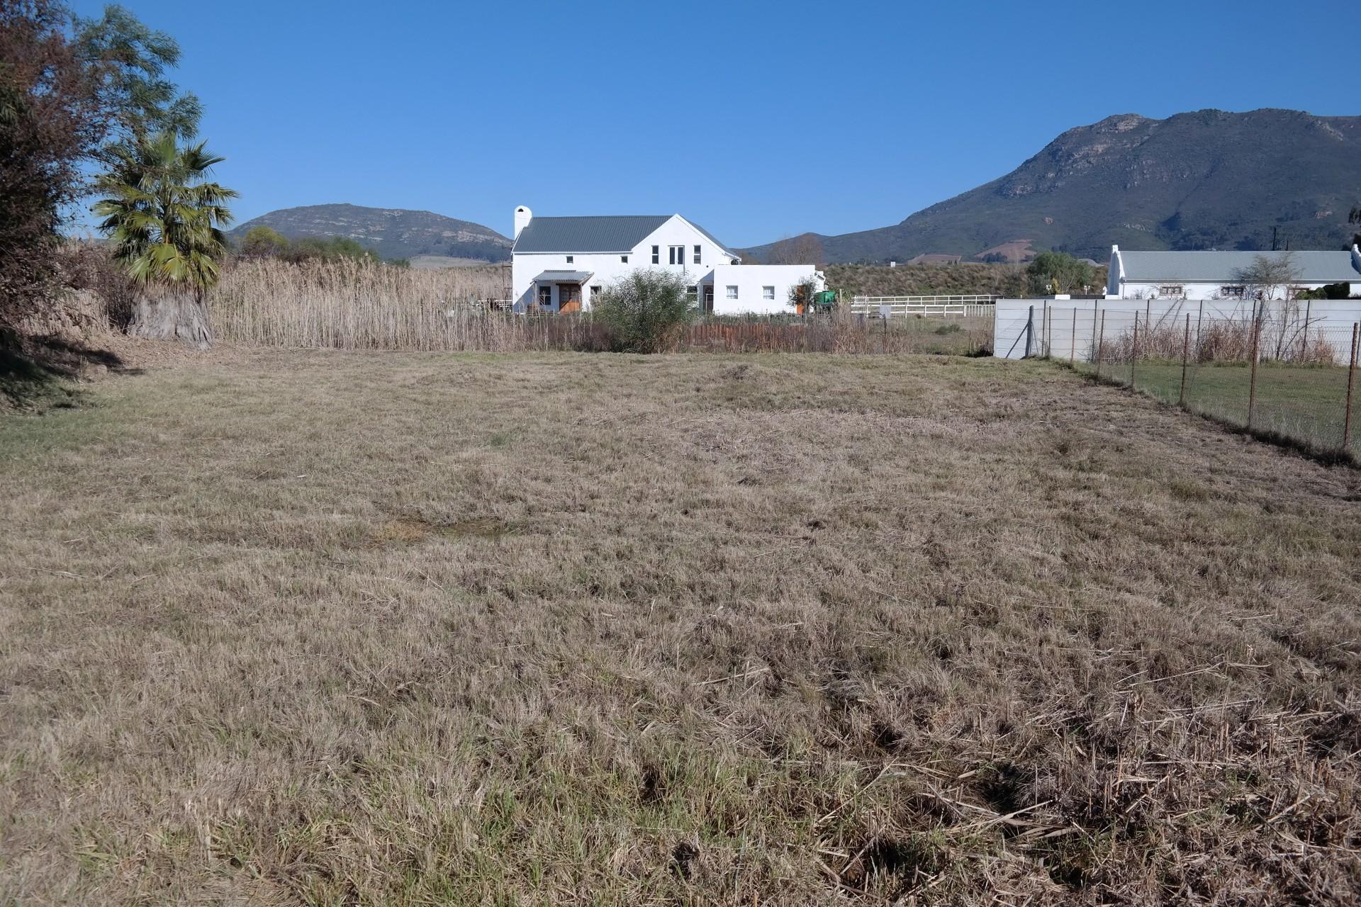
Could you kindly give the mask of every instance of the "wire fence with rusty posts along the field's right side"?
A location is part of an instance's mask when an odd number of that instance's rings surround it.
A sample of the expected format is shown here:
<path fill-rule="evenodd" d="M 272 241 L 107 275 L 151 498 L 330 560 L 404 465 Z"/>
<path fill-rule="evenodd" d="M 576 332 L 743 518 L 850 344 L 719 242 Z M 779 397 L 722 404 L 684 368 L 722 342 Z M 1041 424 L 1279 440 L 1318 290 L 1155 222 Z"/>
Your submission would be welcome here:
<path fill-rule="evenodd" d="M 1361 458 L 1361 318 L 1317 315 L 1309 301 L 1112 303 L 1037 305 L 1018 343 L 1256 435 Z"/>

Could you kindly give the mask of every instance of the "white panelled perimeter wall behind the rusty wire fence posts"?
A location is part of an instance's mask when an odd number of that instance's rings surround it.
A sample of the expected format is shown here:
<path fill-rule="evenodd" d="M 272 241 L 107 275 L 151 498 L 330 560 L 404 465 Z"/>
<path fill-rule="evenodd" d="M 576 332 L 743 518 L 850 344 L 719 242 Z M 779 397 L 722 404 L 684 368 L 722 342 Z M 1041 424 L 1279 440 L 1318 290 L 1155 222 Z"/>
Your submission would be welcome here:
<path fill-rule="evenodd" d="M 1277 303 L 1283 305 L 1283 303 Z M 1309 335 L 1322 332 L 1332 345 L 1339 362 L 1351 355 L 1351 325 L 1361 321 L 1361 299 L 1313 299 L 1294 302 L 1297 317 L 1304 318 L 1308 306 Z M 1141 330 L 1150 320 L 1155 328 L 1184 325 L 1191 315 L 1191 330 L 1200 318 L 1248 321 L 1252 318 L 1252 301 L 1244 299 L 998 299 L 992 322 L 992 355 L 1002 359 L 1025 356 L 1026 321 L 1034 307 L 1032 332 L 1032 355 L 1040 355 L 1043 343 L 1048 339 L 1049 351 L 1055 358 L 1070 355 L 1090 362 L 1093 340 L 1102 328 L 1106 339 L 1134 328 L 1138 313 Z M 1048 324 L 1047 324 L 1048 320 Z"/>

